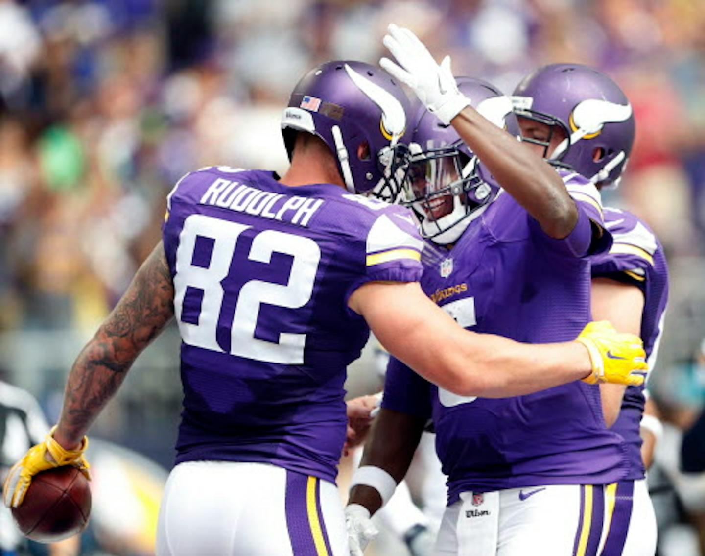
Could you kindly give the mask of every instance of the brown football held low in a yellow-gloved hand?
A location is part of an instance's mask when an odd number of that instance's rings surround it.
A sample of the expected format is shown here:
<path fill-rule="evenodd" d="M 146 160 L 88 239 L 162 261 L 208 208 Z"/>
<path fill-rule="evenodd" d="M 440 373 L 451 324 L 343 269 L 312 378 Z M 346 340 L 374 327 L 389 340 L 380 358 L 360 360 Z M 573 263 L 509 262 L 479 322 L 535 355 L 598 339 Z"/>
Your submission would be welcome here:
<path fill-rule="evenodd" d="M 37 473 L 12 515 L 27 538 L 54 543 L 85 529 L 90 504 L 88 479 L 75 467 L 62 466 Z"/>

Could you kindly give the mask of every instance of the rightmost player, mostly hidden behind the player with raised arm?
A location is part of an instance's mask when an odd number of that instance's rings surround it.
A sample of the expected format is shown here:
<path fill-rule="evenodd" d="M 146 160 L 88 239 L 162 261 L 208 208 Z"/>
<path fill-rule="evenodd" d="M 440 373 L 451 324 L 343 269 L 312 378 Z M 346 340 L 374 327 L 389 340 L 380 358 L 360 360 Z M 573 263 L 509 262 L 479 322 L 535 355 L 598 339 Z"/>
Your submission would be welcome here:
<path fill-rule="evenodd" d="M 598 189 L 618 183 L 632 150 L 635 123 L 629 100 L 611 78 L 580 64 L 551 64 L 527 75 L 513 101 L 522 138 L 541 156 L 587 176 Z M 668 298 L 663 247 L 634 214 L 606 207 L 604 215 L 614 243 L 608 253 L 591 260 L 592 317 L 638 334 L 649 368 L 654 368 Z M 642 436 L 658 431 L 658 421 L 643 416 L 644 385 L 599 389 L 606 426 L 623 437 L 629 463 L 622 480 L 604 490 L 608 511 L 600 553 L 654 554 L 656 518 L 644 478 L 644 460 L 651 458 L 641 448 Z M 645 425 L 641 435 L 640 422 Z"/>

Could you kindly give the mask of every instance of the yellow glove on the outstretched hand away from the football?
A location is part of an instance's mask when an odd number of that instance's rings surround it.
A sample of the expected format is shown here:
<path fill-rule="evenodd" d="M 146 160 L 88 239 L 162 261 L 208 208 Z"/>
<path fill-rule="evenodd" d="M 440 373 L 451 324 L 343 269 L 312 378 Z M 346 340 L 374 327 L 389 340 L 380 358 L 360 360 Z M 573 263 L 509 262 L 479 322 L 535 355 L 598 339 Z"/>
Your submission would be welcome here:
<path fill-rule="evenodd" d="M 582 379 L 588 384 L 612 382 L 639 386 L 644 382 L 646 353 L 642 340 L 635 334 L 617 332 L 610 322 L 589 322 L 575 339 L 587 347 L 592 374 Z M 636 371 L 644 371 L 639 374 Z"/>

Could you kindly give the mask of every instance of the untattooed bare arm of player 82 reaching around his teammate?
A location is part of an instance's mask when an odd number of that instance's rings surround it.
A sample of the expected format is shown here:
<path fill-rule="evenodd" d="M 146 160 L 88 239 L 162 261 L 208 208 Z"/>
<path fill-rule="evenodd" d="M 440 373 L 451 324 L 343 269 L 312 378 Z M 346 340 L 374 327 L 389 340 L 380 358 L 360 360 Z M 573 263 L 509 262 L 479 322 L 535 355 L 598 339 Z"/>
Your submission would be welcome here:
<path fill-rule="evenodd" d="M 464 330 L 427 298 L 417 282 L 369 282 L 355 290 L 348 305 L 364 317 L 389 353 L 460 396 L 521 396 L 573 380 L 590 380 L 595 364 L 619 361 L 626 375 L 646 368 L 642 342 L 632 334 L 617 335 L 625 341 L 620 357 L 628 356 L 628 361 L 608 358 L 600 363 L 599 354 L 580 342 L 529 345 Z M 614 355 L 616 349 L 615 342 L 608 351 Z M 632 379 L 642 382 L 641 377 Z"/>

